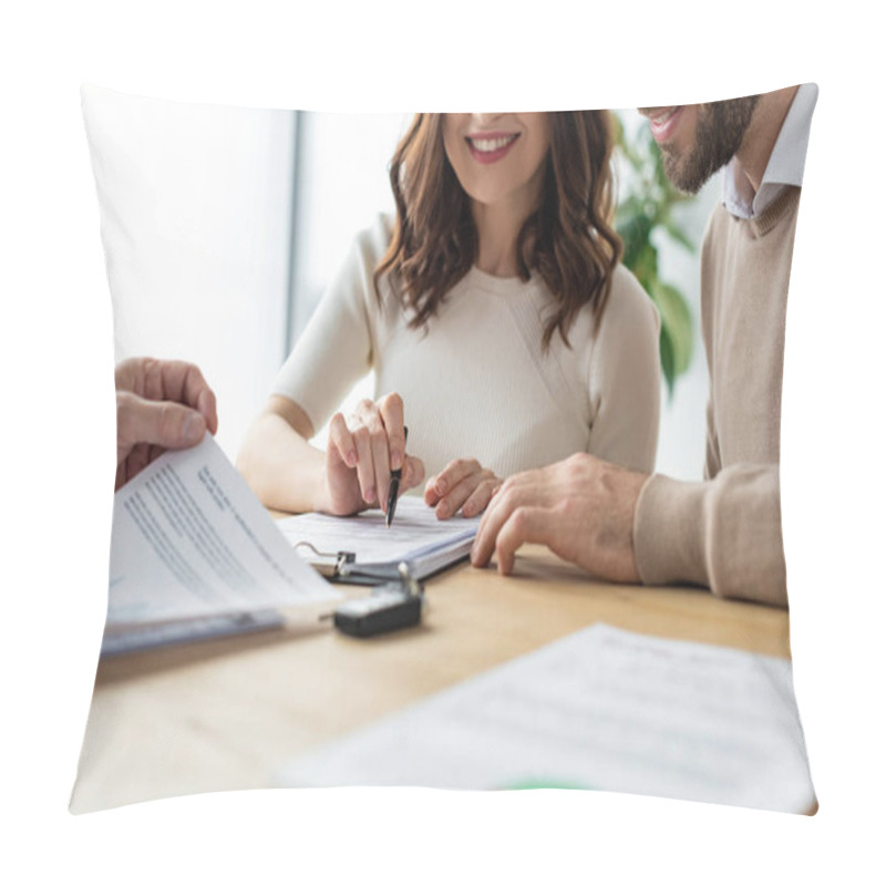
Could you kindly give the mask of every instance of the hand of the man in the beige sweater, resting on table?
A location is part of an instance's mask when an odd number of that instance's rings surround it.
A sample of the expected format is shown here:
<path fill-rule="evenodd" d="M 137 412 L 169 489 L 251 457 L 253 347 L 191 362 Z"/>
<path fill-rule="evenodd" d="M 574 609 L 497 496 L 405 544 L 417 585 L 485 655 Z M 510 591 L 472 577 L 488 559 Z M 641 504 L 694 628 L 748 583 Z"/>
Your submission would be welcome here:
<path fill-rule="evenodd" d="M 495 553 L 508 575 L 517 548 L 537 543 L 599 578 L 636 584 L 633 512 L 647 478 L 586 454 L 515 474 L 483 515 L 471 563 Z"/>

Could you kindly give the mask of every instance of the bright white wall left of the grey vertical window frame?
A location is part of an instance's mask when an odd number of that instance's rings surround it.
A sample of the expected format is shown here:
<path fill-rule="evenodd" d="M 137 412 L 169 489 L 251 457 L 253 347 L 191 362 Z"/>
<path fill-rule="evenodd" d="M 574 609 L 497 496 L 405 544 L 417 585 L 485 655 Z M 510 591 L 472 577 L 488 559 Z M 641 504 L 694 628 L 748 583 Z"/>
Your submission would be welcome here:
<path fill-rule="evenodd" d="M 84 87 L 115 358 L 196 362 L 234 456 L 285 352 L 296 115 Z"/>

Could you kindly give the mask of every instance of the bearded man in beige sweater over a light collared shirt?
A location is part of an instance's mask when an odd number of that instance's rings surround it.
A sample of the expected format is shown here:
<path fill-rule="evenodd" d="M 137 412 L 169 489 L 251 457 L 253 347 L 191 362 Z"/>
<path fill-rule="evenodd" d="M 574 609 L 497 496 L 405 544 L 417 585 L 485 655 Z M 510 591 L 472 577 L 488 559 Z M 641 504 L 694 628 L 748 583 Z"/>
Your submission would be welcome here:
<path fill-rule="evenodd" d="M 475 566 L 495 553 L 506 575 L 517 548 L 534 542 L 609 580 L 694 584 L 787 605 L 779 483 L 784 320 L 816 97 L 807 84 L 640 109 L 678 188 L 697 193 L 725 166 L 701 254 L 704 480 L 640 474 L 585 453 L 517 474 L 483 516 Z"/>

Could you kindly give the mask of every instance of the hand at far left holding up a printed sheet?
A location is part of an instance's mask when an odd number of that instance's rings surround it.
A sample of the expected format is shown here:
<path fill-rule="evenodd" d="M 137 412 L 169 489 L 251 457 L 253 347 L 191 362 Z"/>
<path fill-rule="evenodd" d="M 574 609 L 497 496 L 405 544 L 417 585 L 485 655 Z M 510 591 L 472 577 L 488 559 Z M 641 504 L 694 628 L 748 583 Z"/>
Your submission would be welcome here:
<path fill-rule="evenodd" d="M 132 358 L 114 372 L 117 390 L 115 490 L 166 450 L 186 449 L 218 429 L 215 394 L 199 369 L 181 360 Z"/>

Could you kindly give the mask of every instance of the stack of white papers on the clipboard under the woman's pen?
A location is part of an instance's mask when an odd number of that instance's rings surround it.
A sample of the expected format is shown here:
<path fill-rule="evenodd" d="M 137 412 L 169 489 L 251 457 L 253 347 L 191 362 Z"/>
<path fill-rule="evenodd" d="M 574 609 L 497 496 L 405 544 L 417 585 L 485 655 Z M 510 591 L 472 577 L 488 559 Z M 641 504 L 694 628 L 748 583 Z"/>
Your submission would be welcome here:
<path fill-rule="evenodd" d="M 282 534 L 308 562 L 334 566 L 339 554 L 352 554 L 339 578 L 396 578 L 405 562 L 412 576 L 426 578 L 457 563 L 471 552 L 480 517 L 456 515 L 437 519 L 434 509 L 415 496 L 403 496 L 390 527 L 381 511 L 367 511 L 353 517 L 300 514 L 277 524 Z"/>

